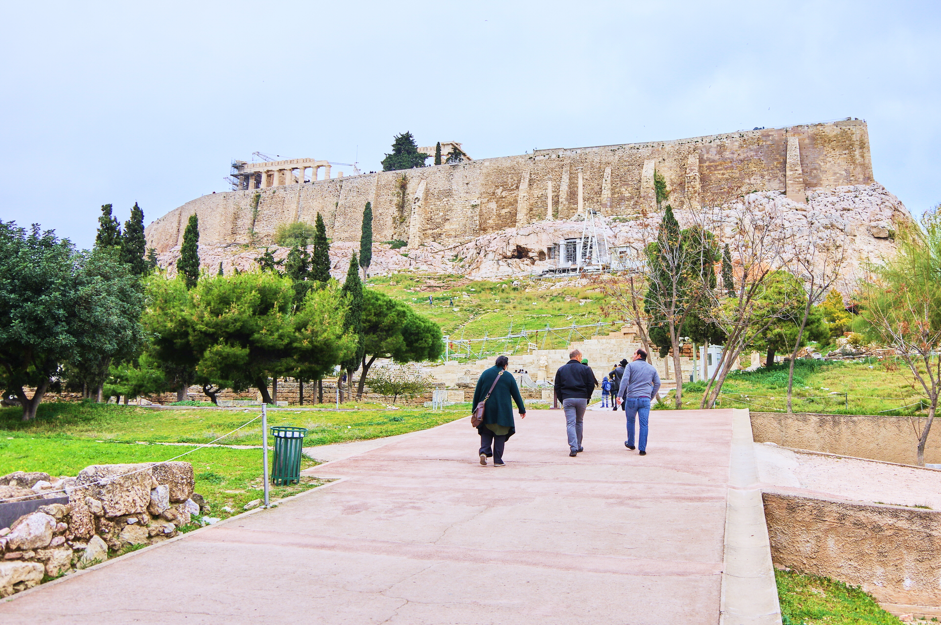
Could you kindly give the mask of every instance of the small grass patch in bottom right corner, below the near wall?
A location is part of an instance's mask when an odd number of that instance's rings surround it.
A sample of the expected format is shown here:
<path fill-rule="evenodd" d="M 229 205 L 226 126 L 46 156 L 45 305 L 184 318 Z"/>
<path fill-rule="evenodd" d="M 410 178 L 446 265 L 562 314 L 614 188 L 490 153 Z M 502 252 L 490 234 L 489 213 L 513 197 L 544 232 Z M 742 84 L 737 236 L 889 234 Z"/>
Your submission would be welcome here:
<path fill-rule="evenodd" d="M 828 577 L 775 570 L 783 625 L 900 625 L 867 593 Z"/>

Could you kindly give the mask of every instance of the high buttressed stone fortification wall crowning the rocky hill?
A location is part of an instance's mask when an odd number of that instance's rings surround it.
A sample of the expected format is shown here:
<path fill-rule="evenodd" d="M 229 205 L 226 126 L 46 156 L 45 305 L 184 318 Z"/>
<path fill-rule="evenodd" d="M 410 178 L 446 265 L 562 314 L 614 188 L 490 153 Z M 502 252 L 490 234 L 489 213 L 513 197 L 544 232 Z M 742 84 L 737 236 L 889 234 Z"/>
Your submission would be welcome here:
<path fill-rule="evenodd" d="M 147 227 L 165 253 L 181 244 L 199 214 L 200 244 L 271 243 L 281 224 L 313 223 L 320 212 L 334 241 L 359 241 L 366 202 L 376 241 L 468 242 L 580 206 L 606 215 L 654 211 L 653 177 L 675 208 L 724 204 L 752 191 L 787 192 L 805 202 L 813 189 L 873 182 L 866 123 L 857 120 L 602 146 L 363 174 L 307 184 L 203 195 Z M 253 206 L 258 195 L 257 208 Z"/>

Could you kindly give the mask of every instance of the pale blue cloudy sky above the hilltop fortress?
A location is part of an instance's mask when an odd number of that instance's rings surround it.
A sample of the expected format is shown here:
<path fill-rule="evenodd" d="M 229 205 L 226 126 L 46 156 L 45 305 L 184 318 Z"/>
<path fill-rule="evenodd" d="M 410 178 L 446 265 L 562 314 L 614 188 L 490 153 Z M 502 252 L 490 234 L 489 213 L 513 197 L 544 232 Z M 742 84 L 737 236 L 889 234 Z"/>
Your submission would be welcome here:
<path fill-rule="evenodd" d="M 859 117 L 876 180 L 941 202 L 936 2 L 0 4 L 0 220 L 79 247 L 102 204 L 149 224 L 254 151 L 378 170 L 405 131 L 479 159 Z"/>

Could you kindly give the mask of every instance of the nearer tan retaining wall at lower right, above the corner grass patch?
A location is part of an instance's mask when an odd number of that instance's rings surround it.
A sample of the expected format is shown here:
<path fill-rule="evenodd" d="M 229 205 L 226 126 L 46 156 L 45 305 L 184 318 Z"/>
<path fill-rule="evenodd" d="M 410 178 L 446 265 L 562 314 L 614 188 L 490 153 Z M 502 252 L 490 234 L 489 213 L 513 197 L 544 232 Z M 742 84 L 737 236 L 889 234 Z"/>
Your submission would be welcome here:
<path fill-rule="evenodd" d="M 775 492 L 762 498 L 775 566 L 862 586 L 893 612 L 941 606 L 941 512 Z"/>

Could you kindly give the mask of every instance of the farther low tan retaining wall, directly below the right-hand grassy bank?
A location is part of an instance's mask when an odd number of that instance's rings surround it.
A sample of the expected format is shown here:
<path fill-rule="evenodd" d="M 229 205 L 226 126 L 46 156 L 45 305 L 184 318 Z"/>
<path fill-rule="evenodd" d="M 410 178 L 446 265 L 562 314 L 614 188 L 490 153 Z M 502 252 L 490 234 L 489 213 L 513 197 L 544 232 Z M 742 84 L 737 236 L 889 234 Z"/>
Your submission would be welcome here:
<path fill-rule="evenodd" d="M 916 463 L 917 417 L 870 414 L 751 413 L 756 443 L 824 451 L 871 460 Z M 941 443 L 929 437 L 925 462 L 941 462 Z"/>

